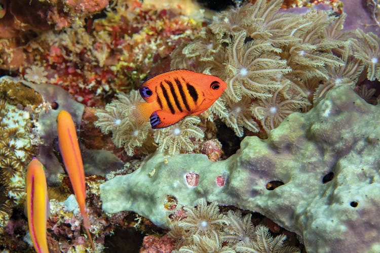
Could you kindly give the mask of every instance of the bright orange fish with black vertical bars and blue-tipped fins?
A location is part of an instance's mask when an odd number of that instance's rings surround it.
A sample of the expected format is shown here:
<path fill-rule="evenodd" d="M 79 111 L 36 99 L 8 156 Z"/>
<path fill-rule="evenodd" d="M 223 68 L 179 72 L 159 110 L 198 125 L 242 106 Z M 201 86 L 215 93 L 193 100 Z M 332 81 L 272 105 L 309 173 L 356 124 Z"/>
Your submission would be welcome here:
<path fill-rule="evenodd" d="M 186 116 L 207 110 L 223 93 L 227 84 L 219 77 L 187 69 L 171 70 L 146 80 L 139 92 L 147 102 L 129 108 L 136 125 L 150 118 L 153 129 L 166 128 Z"/>

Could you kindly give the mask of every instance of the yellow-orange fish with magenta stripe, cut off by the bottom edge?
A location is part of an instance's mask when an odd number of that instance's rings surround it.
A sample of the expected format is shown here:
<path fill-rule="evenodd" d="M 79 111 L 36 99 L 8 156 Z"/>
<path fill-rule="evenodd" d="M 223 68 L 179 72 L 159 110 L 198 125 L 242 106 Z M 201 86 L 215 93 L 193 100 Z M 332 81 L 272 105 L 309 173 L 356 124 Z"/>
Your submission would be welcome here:
<path fill-rule="evenodd" d="M 48 186 L 45 167 L 33 157 L 26 172 L 26 209 L 30 238 L 38 253 L 49 253 L 46 221 L 49 218 Z"/>

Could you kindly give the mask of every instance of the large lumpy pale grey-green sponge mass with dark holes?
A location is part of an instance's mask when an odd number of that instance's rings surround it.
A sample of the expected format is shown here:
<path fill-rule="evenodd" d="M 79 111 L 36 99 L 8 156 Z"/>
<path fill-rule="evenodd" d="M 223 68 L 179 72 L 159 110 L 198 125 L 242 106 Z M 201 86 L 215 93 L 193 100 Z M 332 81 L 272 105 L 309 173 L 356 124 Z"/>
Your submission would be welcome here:
<path fill-rule="evenodd" d="M 206 198 L 267 216 L 300 235 L 308 252 L 378 252 L 379 115 L 380 107 L 349 86 L 333 88 L 308 113 L 285 118 L 269 139 L 246 137 L 224 161 L 155 153 L 132 174 L 100 185 L 102 208 L 169 227 L 170 214 Z M 197 186 L 188 185 L 188 173 L 199 175 Z M 177 204 L 165 209 L 169 195 Z"/>

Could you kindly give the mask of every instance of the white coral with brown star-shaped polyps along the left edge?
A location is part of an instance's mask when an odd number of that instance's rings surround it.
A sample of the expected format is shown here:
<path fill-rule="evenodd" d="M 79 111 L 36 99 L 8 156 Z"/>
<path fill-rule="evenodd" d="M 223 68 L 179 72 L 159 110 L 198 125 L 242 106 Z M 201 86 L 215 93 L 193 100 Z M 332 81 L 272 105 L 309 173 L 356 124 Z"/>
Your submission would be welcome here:
<path fill-rule="evenodd" d="M 0 79 L 0 234 L 13 208 L 23 203 L 25 167 L 35 152 L 30 138 L 33 110 L 41 101 L 22 83 Z"/>

